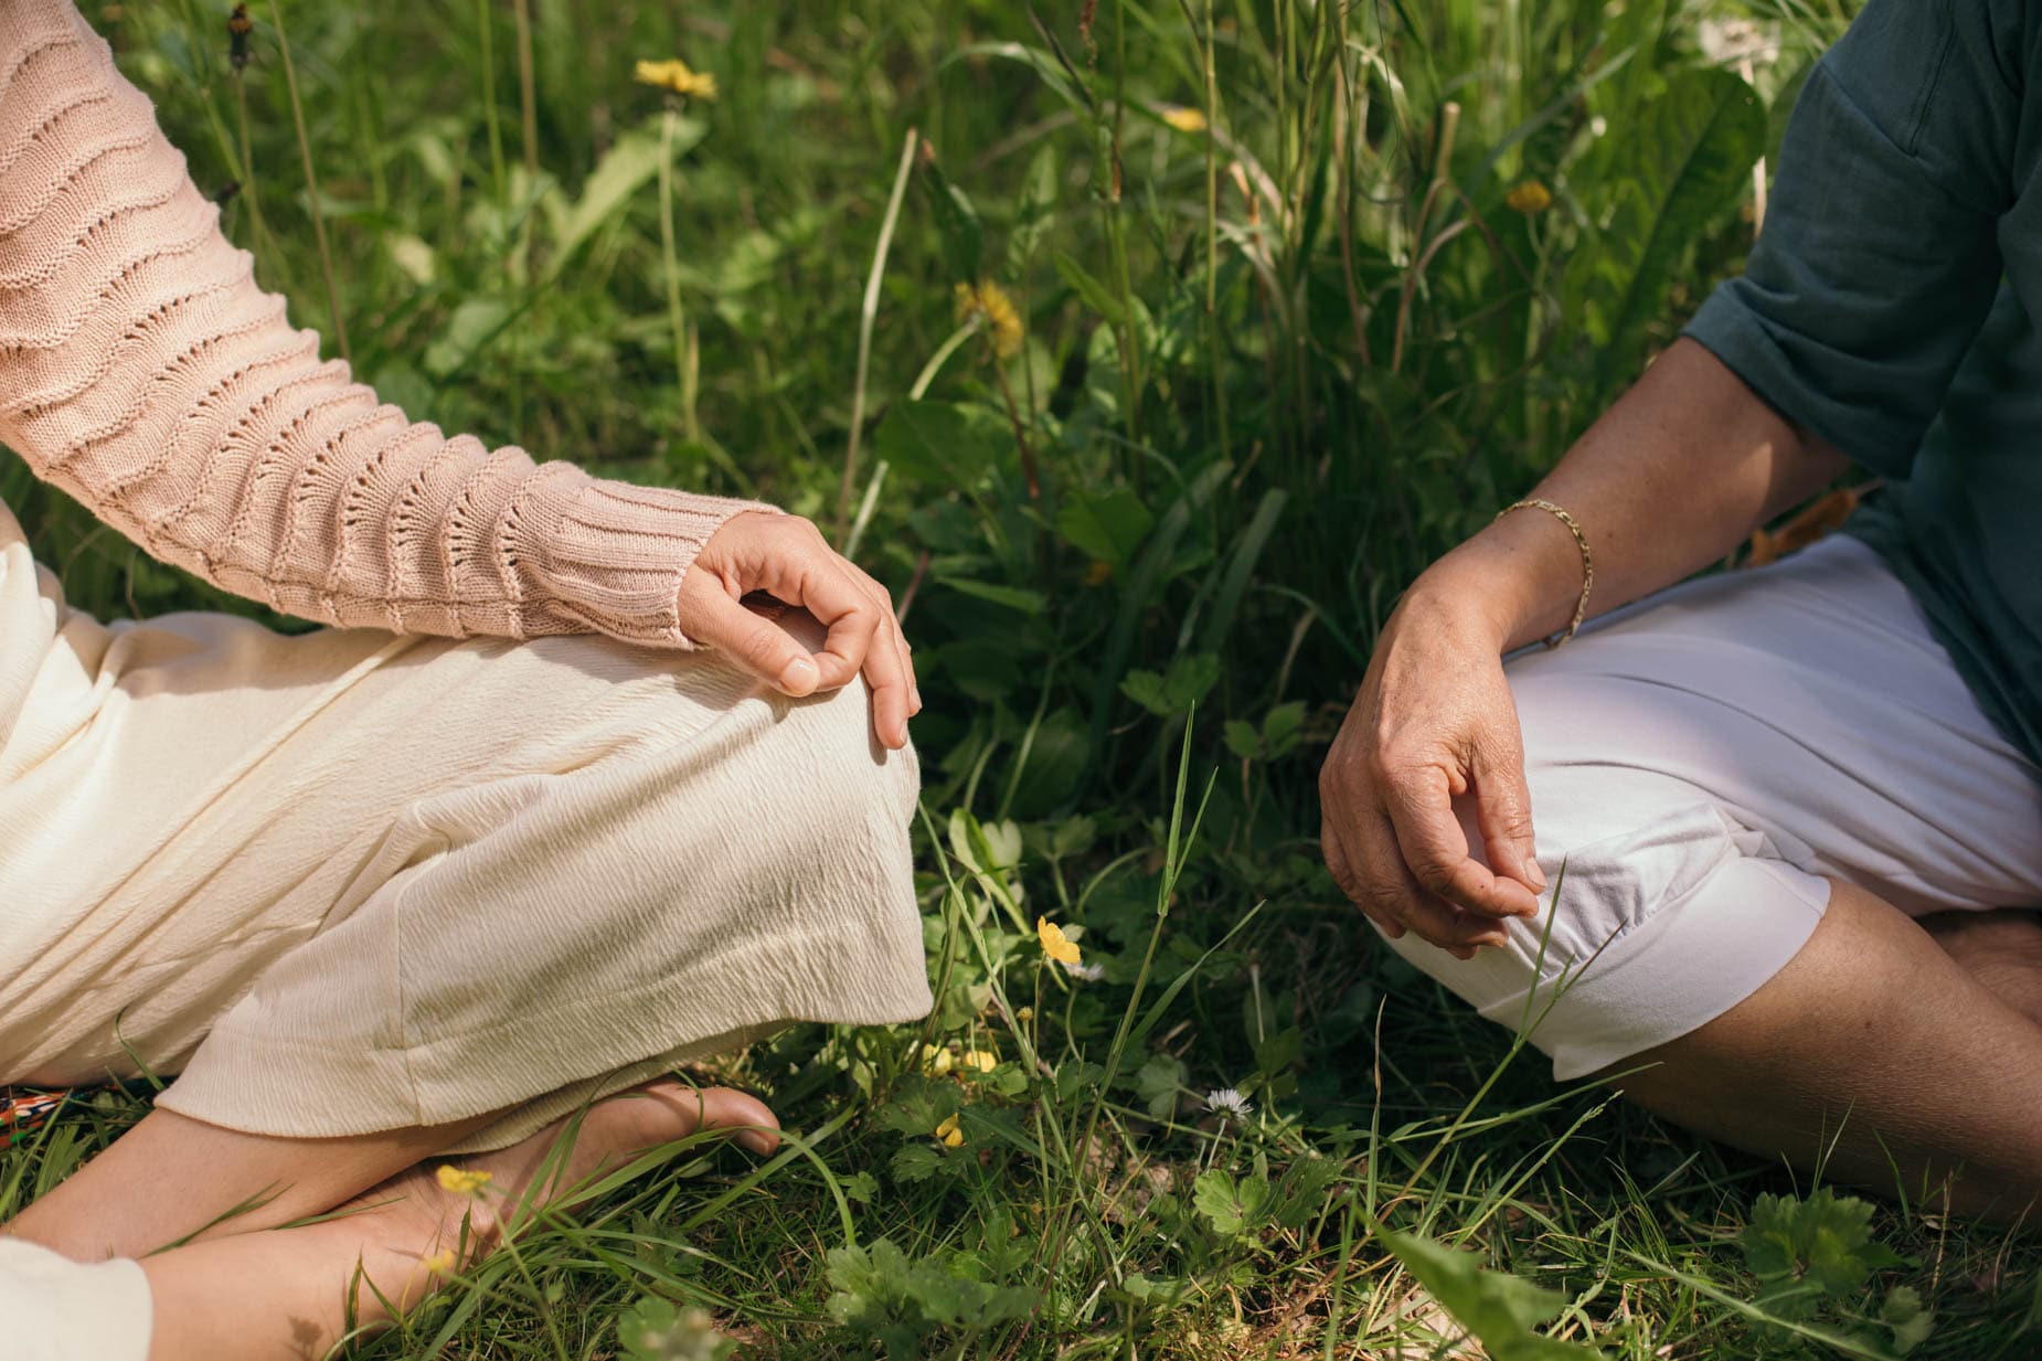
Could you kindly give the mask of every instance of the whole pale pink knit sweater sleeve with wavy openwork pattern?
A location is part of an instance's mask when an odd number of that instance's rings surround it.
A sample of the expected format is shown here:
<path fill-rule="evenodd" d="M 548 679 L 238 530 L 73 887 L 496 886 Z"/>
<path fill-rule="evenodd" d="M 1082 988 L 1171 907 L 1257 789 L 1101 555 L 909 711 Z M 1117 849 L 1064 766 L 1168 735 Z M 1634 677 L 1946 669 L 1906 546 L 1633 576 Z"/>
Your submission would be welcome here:
<path fill-rule="evenodd" d="M 284 613 L 688 646 L 770 509 L 443 437 L 319 360 L 67 0 L 0 0 L 0 441 L 151 556 Z"/>

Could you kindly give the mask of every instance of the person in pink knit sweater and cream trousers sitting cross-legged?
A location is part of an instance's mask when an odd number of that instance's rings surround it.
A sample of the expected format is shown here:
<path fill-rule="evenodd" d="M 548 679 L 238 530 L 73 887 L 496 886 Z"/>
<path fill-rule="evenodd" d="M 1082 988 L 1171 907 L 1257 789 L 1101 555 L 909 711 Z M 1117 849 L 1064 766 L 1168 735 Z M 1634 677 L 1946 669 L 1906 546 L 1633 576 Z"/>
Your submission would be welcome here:
<path fill-rule="evenodd" d="M 86 20 L 0 0 L 0 441 L 333 625 L 102 623 L 0 507 L 0 1085 L 174 1079 L 0 1224 L 6 1361 L 323 1357 L 529 1202 L 774 1146 L 678 1063 L 929 1007 L 886 591 L 408 421 L 216 221 Z"/>

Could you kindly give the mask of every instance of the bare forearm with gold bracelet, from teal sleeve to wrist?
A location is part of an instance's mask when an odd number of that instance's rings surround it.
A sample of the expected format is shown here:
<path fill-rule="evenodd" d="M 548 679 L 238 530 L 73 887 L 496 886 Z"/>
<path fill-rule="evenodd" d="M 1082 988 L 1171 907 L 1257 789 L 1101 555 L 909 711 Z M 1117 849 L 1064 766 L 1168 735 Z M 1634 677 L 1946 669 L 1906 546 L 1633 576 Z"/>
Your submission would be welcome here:
<path fill-rule="evenodd" d="M 1723 558 L 1844 466 L 1681 339 L 1531 495 L 1566 507 L 1589 537 L 1597 615 Z M 1519 511 L 1436 562 L 1419 589 L 1478 601 L 1503 646 L 1517 648 L 1574 617 L 1581 550 L 1556 517 Z"/>

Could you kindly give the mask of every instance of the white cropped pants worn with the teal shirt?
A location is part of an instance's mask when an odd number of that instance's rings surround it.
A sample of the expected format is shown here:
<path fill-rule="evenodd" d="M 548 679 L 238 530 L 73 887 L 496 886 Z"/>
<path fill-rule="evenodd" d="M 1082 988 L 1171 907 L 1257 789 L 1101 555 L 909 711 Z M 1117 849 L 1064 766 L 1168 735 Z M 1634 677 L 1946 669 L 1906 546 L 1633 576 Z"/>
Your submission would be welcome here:
<path fill-rule="evenodd" d="M 1393 948 L 1489 1020 L 1536 1022 L 1562 1081 L 1750 997 L 1832 879 L 1909 916 L 2042 907 L 2042 770 L 1852 537 L 1615 611 L 1507 676 L 1558 899 L 1472 960 Z"/>

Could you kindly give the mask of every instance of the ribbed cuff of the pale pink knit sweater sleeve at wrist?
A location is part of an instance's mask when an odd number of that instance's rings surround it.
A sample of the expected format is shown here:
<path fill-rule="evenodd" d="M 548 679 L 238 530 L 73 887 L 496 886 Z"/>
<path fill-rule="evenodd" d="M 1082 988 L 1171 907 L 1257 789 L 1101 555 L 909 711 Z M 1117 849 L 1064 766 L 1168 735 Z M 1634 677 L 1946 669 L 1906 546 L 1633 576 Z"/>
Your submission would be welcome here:
<path fill-rule="evenodd" d="M 537 609 L 625 642 L 692 648 L 680 627 L 680 582 L 711 535 L 747 511 L 780 515 L 762 501 L 635 486 L 547 464 L 519 507 L 513 546 Z"/>

